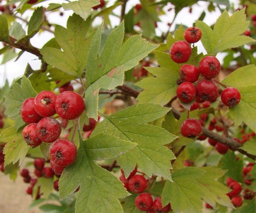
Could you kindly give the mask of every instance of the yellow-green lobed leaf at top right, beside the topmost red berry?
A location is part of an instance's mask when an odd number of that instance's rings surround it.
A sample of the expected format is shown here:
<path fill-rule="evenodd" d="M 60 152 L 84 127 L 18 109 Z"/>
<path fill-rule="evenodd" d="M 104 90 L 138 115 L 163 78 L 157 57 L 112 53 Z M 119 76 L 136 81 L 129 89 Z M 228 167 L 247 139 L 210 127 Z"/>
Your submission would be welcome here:
<path fill-rule="evenodd" d="M 244 13 L 245 8 L 229 17 L 225 10 L 217 19 L 213 31 L 204 22 L 196 21 L 196 27 L 202 31 L 201 42 L 208 54 L 217 54 L 225 49 L 255 41 L 249 36 L 241 35 L 249 26 Z"/>

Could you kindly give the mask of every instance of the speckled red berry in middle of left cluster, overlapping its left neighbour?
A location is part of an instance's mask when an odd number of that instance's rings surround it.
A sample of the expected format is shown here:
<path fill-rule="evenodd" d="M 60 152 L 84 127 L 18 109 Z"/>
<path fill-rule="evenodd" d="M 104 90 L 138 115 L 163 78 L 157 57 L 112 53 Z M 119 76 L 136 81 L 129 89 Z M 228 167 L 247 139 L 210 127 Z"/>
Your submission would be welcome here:
<path fill-rule="evenodd" d="M 61 124 L 53 117 L 44 117 L 36 125 L 36 134 L 42 141 L 51 143 L 60 136 Z"/>

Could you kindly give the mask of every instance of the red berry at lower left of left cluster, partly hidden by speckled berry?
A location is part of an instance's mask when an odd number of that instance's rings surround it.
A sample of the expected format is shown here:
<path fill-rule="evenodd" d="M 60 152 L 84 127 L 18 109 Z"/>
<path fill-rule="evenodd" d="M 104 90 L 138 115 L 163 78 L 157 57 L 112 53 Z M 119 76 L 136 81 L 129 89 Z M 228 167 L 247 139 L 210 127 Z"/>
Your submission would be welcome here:
<path fill-rule="evenodd" d="M 25 142 L 32 148 L 37 147 L 42 143 L 42 141 L 36 134 L 36 125 L 36 123 L 31 123 L 24 127 L 24 129 L 22 130 L 22 136 Z"/>

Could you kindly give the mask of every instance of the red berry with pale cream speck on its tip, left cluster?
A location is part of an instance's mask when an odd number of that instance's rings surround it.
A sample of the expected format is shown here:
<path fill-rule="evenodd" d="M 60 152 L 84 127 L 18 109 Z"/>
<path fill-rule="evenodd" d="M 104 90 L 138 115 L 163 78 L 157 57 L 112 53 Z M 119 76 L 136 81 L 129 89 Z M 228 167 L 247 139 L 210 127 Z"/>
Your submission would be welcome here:
<path fill-rule="evenodd" d="M 34 99 L 35 111 L 42 117 L 50 117 L 56 114 L 55 100 L 57 95 L 51 91 L 42 91 Z"/>

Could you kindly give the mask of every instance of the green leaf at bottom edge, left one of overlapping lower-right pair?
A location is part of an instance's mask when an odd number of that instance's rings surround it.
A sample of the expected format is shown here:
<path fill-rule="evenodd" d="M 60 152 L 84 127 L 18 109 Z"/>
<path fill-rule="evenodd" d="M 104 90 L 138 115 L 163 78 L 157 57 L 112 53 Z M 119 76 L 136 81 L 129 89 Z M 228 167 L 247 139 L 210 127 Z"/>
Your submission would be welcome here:
<path fill-rule="evenodd" d="M 203 190 L 193 182 L 205 173 L 203 169 L 187 167 L 172 173 L 173 183 L 165 182 L 162 192 L 162 205 L 172 203 L 175 213 L 199 213 L 203 204 L 200 198 L 205 196 Z"/>

